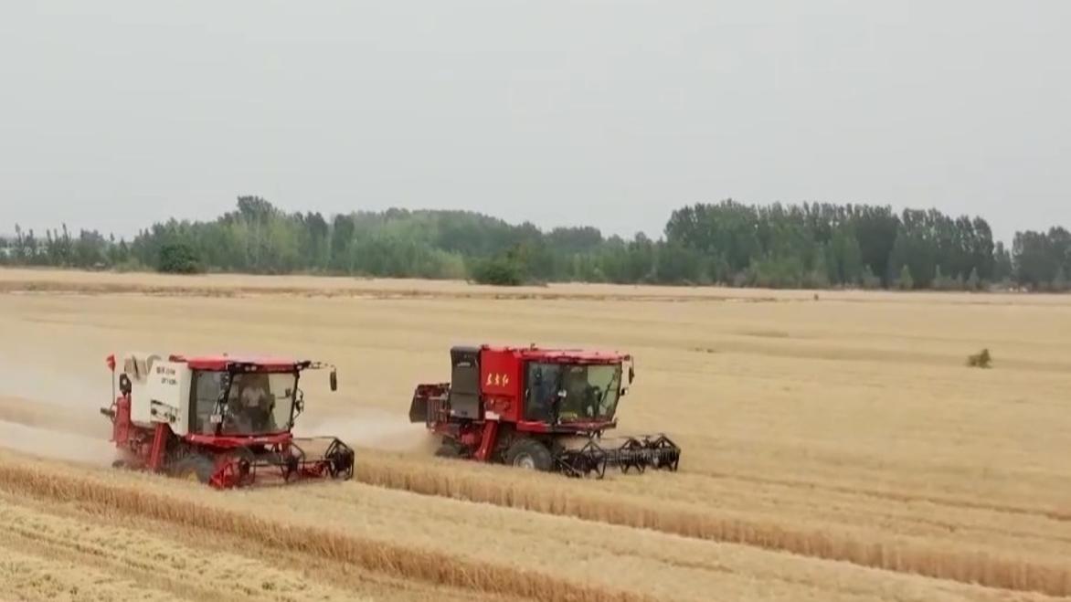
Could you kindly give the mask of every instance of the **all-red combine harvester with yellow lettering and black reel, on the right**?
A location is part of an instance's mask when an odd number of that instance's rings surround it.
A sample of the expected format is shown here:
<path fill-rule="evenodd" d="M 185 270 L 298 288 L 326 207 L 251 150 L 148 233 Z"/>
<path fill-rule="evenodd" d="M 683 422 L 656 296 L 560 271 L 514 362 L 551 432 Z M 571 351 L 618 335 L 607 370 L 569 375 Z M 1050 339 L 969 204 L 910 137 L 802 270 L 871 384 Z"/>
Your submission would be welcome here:
<path fill-rule="evenodd" d="M 451 381 L 419 385 L 409 407 L 411 422 L 442 435 L 436 455 L 570 477 L 677 470 L 680 448 L 665 435 L 602 439 L 635 375 L 631 356 L 484 345 L 454 347 L 450 359 Z"/>

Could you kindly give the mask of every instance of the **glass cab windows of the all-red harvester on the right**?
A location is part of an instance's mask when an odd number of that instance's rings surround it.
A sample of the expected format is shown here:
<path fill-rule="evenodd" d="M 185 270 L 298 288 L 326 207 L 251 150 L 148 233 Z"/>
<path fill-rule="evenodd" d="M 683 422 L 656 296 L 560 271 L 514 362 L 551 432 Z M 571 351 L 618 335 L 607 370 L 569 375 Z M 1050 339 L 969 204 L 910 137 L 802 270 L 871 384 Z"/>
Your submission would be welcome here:
<path fill-rule="evenodd" d="M 621 364 L 552 364 L 528 366 L 528 404 L 525 418 L 546 420 L 558 391 L 561 422 L 610 420 L 621 390 Z M 560 389 L 559 389 L 560 387 Z M 544 418 L 546 417 L 546 418 Z"/>

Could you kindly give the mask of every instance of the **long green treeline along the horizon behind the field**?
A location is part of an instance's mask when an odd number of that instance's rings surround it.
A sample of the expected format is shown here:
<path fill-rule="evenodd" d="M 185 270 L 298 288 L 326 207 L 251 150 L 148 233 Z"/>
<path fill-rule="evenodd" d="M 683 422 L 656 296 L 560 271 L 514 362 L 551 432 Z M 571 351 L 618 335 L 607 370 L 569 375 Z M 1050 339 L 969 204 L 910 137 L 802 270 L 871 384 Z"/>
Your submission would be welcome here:
<path fill-rule="evenodd" d="M 211 222 L 171 220 L 132 240 L 18 225 L 0 262 L 164 272 L 322 273 L 773 288 L 1071 288 L 1071 232 L 1022 231 L 1012 247 L 981 217 L 869 205 L 749 206 L 673 212 L 660 240 L 590 226 L 542 230 L 469 211 L 389 209 L 325 217 L 255 196 Z"/>

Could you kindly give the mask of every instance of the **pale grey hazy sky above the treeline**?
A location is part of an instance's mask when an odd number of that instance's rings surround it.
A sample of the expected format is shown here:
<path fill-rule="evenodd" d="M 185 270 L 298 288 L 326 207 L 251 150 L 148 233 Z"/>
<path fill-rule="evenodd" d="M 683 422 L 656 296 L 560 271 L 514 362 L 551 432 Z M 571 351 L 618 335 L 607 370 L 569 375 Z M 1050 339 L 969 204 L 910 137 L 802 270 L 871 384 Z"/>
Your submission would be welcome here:
<path fill-rule="evenodd" d="M 684 204 L 1071 226 L 1071 2 L 9 1 L 0 230 L 251 193 L 658 236 Z"/>

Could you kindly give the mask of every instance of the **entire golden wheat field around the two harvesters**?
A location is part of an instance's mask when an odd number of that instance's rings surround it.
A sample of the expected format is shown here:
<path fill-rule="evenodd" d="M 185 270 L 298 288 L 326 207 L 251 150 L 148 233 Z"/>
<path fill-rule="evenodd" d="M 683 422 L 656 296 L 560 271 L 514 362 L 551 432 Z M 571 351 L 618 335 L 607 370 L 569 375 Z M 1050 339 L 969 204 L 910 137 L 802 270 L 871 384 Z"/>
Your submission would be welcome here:
<path fill-rule="evenodd" d="M 1071 297 L 0 270 L 0 332 L 18 600 L 1071 598 Z M 431 457 L 409 397 L 461 343 L 633 353 L 619 430 L 673 436 L 680 472 Z M 357 478 L 107 468 L 124 350 L 337 364 L 299 431 L 357 446 Z"/>

